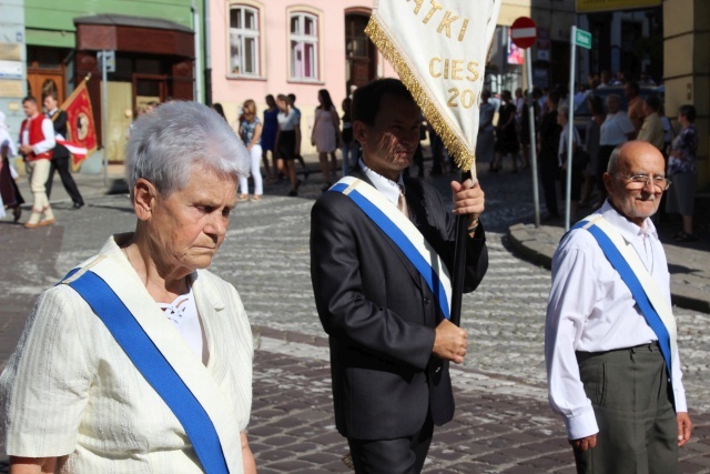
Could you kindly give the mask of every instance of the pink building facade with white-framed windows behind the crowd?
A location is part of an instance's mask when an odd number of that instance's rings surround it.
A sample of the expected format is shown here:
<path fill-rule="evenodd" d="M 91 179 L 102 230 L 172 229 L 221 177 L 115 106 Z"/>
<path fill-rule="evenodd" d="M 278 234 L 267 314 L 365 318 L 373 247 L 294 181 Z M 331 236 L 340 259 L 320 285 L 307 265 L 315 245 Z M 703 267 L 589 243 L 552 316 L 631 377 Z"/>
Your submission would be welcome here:
<path fill-rule="evenodd" d="M 304 138 L 310 137 L 317 92 L 338 107 L 352 85 L 396 77 L 364 33 L 372 0 L 212 0 L 212 100 L 230 122 L 253 99 L 294 93 Z M 312 150 L 304 140 L 304 153 Z"/>

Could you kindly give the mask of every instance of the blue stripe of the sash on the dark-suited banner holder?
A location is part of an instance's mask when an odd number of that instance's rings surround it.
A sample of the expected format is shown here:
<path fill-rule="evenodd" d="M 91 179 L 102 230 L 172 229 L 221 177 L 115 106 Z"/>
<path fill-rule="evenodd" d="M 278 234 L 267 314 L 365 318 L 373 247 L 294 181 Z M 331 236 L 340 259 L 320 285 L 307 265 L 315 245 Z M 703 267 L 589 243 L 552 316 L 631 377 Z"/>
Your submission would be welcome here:
<path fill-rule="evenodd" d="M 343 192 L 348 188 L 346 183 L 337 183 L 333 185 L 329 191 Z M 434 271 L 429 262 L 427 262 L 419 251 L 409 241 L 407 235 L 395 225 L 387 215 L 382 212 L 375 204 L 373 204 L 367 198 L 361 194 L 357 190 L 353 190 L 347 194 L 351 200 L 402 250 L 405 256 L 417 269 L 419 274 L 424 278 L 427 286 L 432 291 L 436 303 L 442 311 L 442 315 L 445 319 L 450 317 L 448 300 L 446 299 L 446 290 L 439 280 L 439 275 Z"/>

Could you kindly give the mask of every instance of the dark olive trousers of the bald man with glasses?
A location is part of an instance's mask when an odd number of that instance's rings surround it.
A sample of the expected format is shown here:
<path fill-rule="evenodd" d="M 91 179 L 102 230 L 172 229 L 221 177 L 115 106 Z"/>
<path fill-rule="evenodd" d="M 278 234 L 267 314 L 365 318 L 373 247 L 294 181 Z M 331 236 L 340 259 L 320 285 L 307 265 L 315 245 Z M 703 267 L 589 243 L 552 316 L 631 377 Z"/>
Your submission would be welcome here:
<path fill-rule="evenodd" d="M 678 425 L 658 344 L 578 353 L 585 392 L 595 410 L 597 446 L 575 450 L 585 474 L 678 472 Z"/>

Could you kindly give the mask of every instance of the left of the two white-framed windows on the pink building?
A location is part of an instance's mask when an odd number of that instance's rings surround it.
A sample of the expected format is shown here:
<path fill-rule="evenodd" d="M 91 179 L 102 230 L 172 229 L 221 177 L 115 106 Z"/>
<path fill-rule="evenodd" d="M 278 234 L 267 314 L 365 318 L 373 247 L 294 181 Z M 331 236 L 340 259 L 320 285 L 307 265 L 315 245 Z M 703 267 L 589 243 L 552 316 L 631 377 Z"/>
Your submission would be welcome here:
<path fill-rule="evenodd" d="M 230 72 L 258 77 L 258 10 L 235 6 L 230 10 Z"/>

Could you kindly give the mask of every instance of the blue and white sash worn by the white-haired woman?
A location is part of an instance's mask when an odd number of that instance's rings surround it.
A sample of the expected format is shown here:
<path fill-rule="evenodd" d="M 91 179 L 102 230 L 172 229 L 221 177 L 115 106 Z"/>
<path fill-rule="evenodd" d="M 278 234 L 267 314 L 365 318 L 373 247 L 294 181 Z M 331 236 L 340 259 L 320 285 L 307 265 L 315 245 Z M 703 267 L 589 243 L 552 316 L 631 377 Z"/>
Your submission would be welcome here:
<path fill-rule="evenodd" d="M 146 324 L 150 317 L 136 314 L 140 311 L 136 303 L 145 302 L 126 292 L 133 282 L 126 285 L 121 281 L 126 279 L 112 275 L 106 271 L 106 263 L 110 265 L 112 262 L 99 256 L 83 269 L 72 270 L 61 284 L 71 286 L 87 301 L 145 381 L 170 407 L 185 430 L 203 470 L 209 474 L 226 474 L 230 468 L 236 471 L 237 465 L 241 468 L 240 436 L 233 433 L 237 430 L 221 394 L 217 395 L 216 383 L 197 357 L 192 354 L 182 356 L 184 351 L 175 350 L 175 344 L 166 344 L 169 336 L 165 333 L 170 331 L 156 334 L 164 330 L 161 324 L 168 319 L 155 319 L 158 324 Z M 114 285 L 119 286 L 116 291 L 112 288 Z M 138 293 L 134 290 L 131 293 Z M 150 309 L 158 306 L 153 304 Z M 193 366 L 185 367 L 185 360 L 187 365 L 194 362 Z"/>

